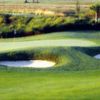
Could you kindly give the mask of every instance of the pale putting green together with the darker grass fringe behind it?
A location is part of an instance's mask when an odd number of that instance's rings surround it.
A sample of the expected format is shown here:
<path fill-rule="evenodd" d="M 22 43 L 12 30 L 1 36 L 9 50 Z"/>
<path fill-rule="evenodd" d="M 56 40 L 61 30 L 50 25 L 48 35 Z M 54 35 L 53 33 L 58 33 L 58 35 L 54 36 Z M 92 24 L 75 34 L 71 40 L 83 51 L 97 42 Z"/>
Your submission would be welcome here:
<path fill-rule="evenodd" d="M 0 39 L 0 52 L 36 47 L 91 47 L 100 46 L 100 32 L 58 32 L 23 38 Z"/>

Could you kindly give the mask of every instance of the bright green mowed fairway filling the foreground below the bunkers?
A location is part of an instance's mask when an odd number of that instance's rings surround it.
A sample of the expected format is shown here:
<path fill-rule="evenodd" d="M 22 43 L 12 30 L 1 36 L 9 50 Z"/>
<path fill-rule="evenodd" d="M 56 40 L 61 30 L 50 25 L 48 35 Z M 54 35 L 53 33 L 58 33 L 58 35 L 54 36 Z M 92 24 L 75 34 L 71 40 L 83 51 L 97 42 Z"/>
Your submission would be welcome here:
<path fill-rule="evenodd" d="M 2 72 L 1 100 L 99 100 L 100 71 Z"/>

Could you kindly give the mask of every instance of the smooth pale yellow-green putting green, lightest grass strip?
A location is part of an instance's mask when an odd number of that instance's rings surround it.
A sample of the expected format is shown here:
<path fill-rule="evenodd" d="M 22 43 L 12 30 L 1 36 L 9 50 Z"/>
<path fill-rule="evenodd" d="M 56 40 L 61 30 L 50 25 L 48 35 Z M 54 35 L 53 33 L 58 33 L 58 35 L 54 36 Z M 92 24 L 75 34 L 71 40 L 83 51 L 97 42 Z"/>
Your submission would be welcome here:
<path fill-rule="evenodd" d="M 36 48 L 36 47 L 89 47 L 96 46 L 95 42 L 85 40 L 85 39 L 59 39 L 59 40 L 33 40 L 33 41 L 23 41 L 23 42 L 1 42 L 0 52 L 11 51 L 11 50 L 21 50 L 26 48 Z"/>

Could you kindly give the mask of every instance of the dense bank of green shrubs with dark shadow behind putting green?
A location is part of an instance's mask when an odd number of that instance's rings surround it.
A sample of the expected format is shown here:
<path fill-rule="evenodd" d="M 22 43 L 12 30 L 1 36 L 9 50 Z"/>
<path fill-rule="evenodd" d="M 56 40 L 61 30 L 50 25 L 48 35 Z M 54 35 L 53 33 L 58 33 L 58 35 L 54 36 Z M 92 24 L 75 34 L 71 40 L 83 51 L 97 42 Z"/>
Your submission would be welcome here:
<path fill-rule="evenodd" d="M 53 31 L 100 29 L 91 17 L 0 15 L 0 37 L 19 37 Z"/>

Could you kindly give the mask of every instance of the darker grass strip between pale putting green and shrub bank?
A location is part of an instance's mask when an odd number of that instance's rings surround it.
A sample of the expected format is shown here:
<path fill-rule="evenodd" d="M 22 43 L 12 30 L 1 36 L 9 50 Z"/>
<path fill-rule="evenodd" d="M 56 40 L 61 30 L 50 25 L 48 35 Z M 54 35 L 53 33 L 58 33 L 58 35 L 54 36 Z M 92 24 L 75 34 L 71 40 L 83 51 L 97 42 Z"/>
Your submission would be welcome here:
<path fill-rule="evenodd" d="M 7 38 L 0 39 L 0 42 L 22 42 L 34 40 L 56 40 L 56 39 L 87 39 L 92 41 L 99 41 L 100 31 L 69 31 L 69 32 L 56 32 L 50 34 L 40 34 L 35 36 L 27 36 L 20 38 Z M 100 42 L 98 42 L 99 44 Z"/>

